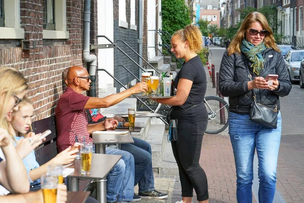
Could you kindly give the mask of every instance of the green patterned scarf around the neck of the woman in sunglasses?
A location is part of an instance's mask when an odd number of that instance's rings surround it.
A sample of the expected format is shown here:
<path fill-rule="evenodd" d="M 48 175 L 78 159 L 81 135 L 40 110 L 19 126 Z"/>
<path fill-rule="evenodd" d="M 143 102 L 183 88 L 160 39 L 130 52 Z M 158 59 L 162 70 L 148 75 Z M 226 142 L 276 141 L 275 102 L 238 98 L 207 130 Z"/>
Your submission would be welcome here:
<path fill-rule="evenodd" d="M 264 69 L 263 62 L 265 59 L 262 57 L 261 53 L 266 49 L 265 44 L 262 42 L 259 45 L 254 46 L 244 39 L 240 48 L 246 57 L 252 62 L 251 67 L 253 69 L 253 73 L 258 76 Z"/>

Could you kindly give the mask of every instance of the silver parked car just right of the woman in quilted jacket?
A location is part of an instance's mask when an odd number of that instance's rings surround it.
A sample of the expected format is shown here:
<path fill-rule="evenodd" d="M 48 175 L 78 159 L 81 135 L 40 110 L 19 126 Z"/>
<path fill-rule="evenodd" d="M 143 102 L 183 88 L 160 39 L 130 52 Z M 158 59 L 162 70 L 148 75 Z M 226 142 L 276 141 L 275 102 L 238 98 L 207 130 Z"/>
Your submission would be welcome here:
<path fill-rule="evenodd" d="M 289 50 L 284 57 L 291 82 L 300 79 L 300 64 L 304 57 L 304 49 Z"/>

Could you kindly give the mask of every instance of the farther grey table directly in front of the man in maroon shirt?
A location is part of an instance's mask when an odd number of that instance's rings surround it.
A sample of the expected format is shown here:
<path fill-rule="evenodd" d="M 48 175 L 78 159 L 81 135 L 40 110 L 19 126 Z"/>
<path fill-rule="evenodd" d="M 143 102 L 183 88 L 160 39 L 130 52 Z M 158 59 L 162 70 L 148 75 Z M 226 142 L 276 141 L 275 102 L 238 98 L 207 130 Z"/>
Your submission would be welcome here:
<path fill-rule="evenodd" d="M 128 131 L 128 129 L 126 129 Z M 104 134 L 104 133 L 107 134 Z M 133 138 L 130 132 L 125 134 L 111 134 L 111 131 L 104 131 L 104 133 L 98 133 L 98 131 L 94 131 L 92 133 L 93 144 L 95 144 L 95 153 L 105 154 L 105 145 L 106 144 L 124 144 L 124 143 L 134 143 Z"/>

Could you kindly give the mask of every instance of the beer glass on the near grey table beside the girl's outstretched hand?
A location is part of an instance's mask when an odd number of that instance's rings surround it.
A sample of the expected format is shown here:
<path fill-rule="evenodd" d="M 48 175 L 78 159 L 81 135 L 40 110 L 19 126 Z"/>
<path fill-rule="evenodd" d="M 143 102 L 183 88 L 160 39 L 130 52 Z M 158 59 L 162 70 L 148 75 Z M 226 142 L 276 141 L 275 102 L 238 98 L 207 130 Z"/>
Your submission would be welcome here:
<path fill-rule="evenodd" d="M 83 143 L 81 146 L 81 173 L 89 174 L 91 171 L 93 143 Z"/>

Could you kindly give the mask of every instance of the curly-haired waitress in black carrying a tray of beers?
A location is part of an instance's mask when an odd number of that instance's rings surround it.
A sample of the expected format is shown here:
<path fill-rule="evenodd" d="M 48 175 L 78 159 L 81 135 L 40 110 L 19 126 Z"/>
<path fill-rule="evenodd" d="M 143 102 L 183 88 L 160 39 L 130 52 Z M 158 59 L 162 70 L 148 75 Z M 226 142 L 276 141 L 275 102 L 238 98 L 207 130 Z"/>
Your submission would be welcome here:
<path fill-rule="evenodd" d="M 172 98 L 156 99 L 158 103 L 171 105 L 172 118 L 178 118 L 178 140 L 172 141 L 172 150 L 178 165 L 182 200 L 191 203 L 193 188 L 200 203 L 208 202 L 208 183 L 199 164 L 203 135 L 207 128 L 208 114 L 203 103 L 207 79 L 201 58 L 202 33 L 197 26 L 187 25 L 171 38 L 171 51 L 185 60 L 174 79 L 177 89 Z M 191 109 L 189 109 L 191 108 Z"/>

